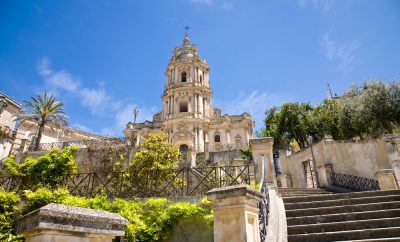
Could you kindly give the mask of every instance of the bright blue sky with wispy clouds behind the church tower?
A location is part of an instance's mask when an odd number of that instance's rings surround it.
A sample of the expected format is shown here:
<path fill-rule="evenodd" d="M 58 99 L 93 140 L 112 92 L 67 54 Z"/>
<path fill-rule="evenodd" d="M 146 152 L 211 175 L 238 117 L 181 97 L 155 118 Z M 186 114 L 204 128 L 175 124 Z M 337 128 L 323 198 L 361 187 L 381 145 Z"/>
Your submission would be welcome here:
<path fill-rule="evenodd" d="M 368 79 L 399 80 L 400 1 L 0 0 L 0 91 L 52 92 L 70 124 L 110 136 L 161 110 L 184 27 L 210 65 L 214 106 L 317 104 Z"/>

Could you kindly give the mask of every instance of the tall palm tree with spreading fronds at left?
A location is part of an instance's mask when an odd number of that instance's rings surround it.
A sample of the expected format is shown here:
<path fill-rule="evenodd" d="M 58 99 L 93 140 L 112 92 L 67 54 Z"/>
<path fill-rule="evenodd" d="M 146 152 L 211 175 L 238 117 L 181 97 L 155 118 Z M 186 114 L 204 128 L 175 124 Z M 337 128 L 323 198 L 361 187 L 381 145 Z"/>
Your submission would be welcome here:
<path fill-rule="evenodd" d="M 55 100 L 55 97 L 50 97 L 45 92 L 43 97 L 38 95 L 36 98 L 31 96 L 30 101 L 23 101 L 25 108 L 21 116 L 17 119 L 19 123 L 33 121 L 39 125 L 37 139 L 34 150 L 39 150 L 40 140 L 44 127 L 65 127 L 68 126 L 68 117 L 64 113 L 64 103 Z"/>

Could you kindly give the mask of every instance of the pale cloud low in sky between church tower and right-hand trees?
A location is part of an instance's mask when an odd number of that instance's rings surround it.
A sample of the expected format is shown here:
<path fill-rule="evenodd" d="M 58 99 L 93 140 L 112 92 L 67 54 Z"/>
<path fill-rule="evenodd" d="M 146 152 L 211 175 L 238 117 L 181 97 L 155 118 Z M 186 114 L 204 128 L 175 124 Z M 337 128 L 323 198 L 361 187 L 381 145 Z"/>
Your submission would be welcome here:
<path fill-rule="evenodd" d="M 215 100 L 214 107 L 221 108 L 222 114 L 250 113 L 253 120 L 256 122 L 256 130 L 259 130 L 264 125 L 264 113 L 267 108 L 280 105 L 284 101 L 288 101 L 284 95 L 268 94 L 254 90 L 250 94 L 241 93 L 233 100 Z"/>

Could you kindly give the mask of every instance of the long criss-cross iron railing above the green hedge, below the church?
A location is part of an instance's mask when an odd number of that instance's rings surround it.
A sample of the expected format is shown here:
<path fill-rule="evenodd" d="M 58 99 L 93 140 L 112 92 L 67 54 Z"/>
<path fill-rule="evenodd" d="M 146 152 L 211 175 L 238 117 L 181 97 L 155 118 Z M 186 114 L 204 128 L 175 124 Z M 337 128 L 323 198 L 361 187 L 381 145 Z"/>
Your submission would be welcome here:
<path fill-rule="evenodd" d="M 63 177 L 60 187 L 67 188 L 76 196 L 94 197 L 175 197 L 203 196 L 212 188 L 238 184 L 250 184 L 251 165 L 203 168 L 180 168 L 149 171 L 140 176 L 136 173 L 80 173 Z M 6 191 L 35 189 L 39 181 L 27 176 L 0 176 L 0 187 Z"/>

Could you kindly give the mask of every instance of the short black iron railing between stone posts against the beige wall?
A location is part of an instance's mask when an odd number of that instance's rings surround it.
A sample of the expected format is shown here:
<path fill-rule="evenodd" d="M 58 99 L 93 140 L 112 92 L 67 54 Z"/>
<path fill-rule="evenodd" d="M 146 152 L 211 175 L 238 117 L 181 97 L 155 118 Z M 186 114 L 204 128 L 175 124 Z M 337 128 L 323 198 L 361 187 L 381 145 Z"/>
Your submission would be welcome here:
<path fill-rule="evenodd" d="M 350 189 L 353 191 L 380 190 L 377 180 L 343 173 L 332 172 L 332 183 L 334 186 Z"/>

